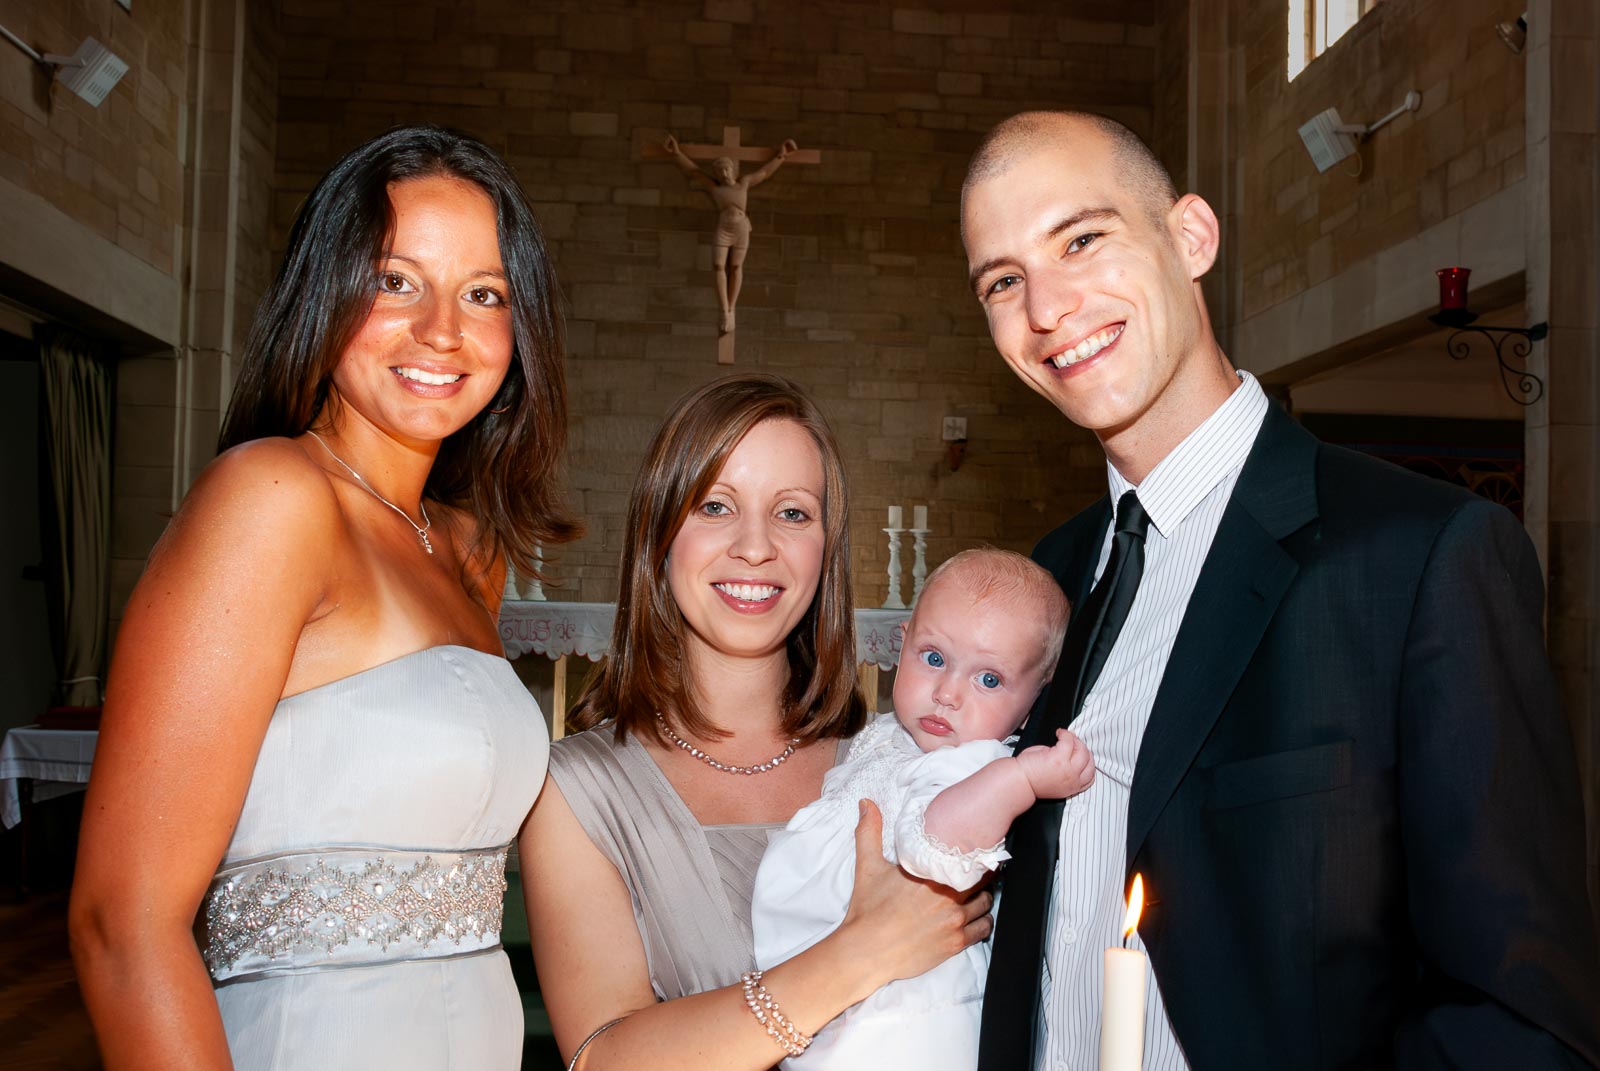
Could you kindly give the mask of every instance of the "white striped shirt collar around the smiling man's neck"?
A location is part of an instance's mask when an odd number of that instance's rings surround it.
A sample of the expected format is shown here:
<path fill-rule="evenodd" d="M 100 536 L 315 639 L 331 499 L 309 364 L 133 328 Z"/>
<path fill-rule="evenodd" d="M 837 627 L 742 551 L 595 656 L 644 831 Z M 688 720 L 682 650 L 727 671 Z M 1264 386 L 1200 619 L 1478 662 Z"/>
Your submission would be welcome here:
<path fill-rule="evenodd" d="M 1162 458 L 1142 483 L 1134 487 L 1123 479 L 1117 466 L 1106 463 L 1114 507 L 1125 491 L 1138 491 L 1139 504 L 1150 515 L 1150 523 L 1163 536 L 1171 538 L 1173 530 L 1216 490 L 1218 483 L 1243 467 L 1269 405 L 1267 392 L 1256 378 L 1240 370 L 1238 387 Z"/>

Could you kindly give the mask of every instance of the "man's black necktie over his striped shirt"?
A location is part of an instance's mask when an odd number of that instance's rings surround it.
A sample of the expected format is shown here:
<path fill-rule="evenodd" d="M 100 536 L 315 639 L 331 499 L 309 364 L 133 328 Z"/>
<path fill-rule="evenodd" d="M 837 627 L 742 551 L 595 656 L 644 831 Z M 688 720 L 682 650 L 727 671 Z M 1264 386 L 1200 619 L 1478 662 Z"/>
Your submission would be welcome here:
<path fill-rule="evenodd" d="M 1083 698 L 1106 668 L 1106 656 L 1110 655 L 1139 591 L 1139 580 L 1144 576 L 1144 533 L 1149 527 L 1150 515 L 1144 512 L 1138 496 L 1133 491 L 1123 495 L 1117 501 L 1117 523 L 1106 572 L 1083 605 L 1074 610 L 1050 700 L 1038 712 L 1040 717 L 1034 719 L 1035 724 L 1022 733 L 1018 749 L 1054 743 L 1056 728 L 1067 725 L 1083 708 Z M 1045 916 L 1061 848 L 1062 805 L 1064 800 L 1059 799 L 1042 799 L 1011 823 L 1011 836 L 1006 839 L 1011 861 L 1005 869 L 994 956 L 984 991 L 979 1071 L 1018 1071 L 1034 1060 Z"/>

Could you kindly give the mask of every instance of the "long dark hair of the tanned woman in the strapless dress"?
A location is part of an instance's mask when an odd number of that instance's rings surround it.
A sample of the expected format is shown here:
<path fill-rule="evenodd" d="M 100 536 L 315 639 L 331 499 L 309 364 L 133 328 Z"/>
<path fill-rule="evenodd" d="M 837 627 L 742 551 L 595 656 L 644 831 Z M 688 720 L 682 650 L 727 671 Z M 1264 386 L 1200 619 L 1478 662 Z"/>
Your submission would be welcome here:
<path fill-rule="evenodd" d="M 218 451 L 306 432 L 330 399 L 333 371 L 378 295 L 394 240 L 389 186 L 448 176 L 494 203 L 512 314 L 512 362 L 494 400 L 440 443 L 422 495 L 477 522 L 472 559 L 504 554 L 533 575 L 534 543 L 581 533 L 560 493 L 566 375 L 555 272 L 517 178 L 488 146 L 443 126 L 400 126 L 333 165 L 290 231 L 272 288 L 245 341 Z"/>

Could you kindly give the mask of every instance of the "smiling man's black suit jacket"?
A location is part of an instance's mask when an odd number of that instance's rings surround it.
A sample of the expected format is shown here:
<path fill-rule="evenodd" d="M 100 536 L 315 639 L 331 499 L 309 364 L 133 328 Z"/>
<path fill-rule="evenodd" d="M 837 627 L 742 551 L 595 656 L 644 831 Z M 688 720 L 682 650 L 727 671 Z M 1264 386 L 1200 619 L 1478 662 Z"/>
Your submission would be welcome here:
<path fill-rule="evenodd" d="M 1075 605 L 1109 522 L 1102 499 L 1035 551 Z M 1197 1071 L 1600 1066 L 1541 607 L 1507 511 L 1272 407 L 1128 812 L 1139 933 Z"/>

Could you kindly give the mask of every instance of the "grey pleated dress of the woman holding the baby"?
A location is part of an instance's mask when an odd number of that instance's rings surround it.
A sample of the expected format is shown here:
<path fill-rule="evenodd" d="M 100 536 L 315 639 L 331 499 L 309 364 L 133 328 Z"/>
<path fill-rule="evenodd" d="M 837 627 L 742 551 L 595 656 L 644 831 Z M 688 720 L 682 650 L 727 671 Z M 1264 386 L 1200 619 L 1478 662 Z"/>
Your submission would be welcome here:
<path fill-rule="evenodd" d="M 627 884 L 656 999 L 738 985 L 755 969 L 750 892 L 782 823 L 699 824 L 638 740 L 618 743 L 610 725 L 550 744 L 550 778 Z"/>

